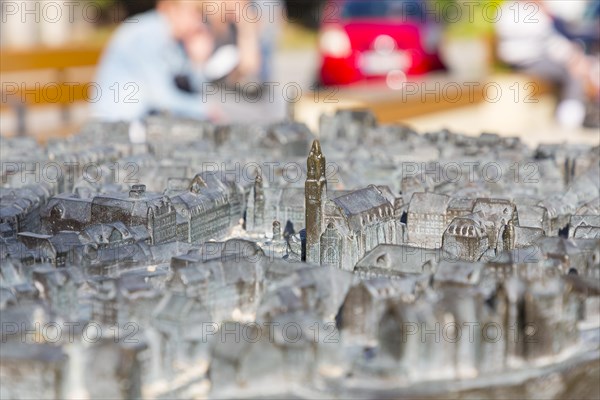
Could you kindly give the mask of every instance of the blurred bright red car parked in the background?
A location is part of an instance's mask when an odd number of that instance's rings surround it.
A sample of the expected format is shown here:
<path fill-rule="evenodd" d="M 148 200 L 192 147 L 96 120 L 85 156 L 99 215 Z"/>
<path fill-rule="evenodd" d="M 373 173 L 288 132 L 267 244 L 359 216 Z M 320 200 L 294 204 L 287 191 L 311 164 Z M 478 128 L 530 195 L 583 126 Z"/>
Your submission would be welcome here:
<path fill-rule="evenodd" d="M 421 0 L 331 0 L 319 38 L 320 81 L 347 85 L 441 68 L 440 26 Z"/>

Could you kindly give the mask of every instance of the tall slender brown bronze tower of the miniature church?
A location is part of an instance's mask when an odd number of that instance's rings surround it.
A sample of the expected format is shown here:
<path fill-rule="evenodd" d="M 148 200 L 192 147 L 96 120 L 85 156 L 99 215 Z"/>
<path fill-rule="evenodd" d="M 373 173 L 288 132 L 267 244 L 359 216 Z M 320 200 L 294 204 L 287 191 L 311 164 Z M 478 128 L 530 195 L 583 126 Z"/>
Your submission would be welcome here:
<path fill-rule="evenodd" d="M 325 202 L 327 200 L 326 161 L 318 140 L 313 142 L 306 160 L 307 177 L 304 184 L 306 203 L 306 261 L 321 263 L 321 234 L 325 228 Z"/>

